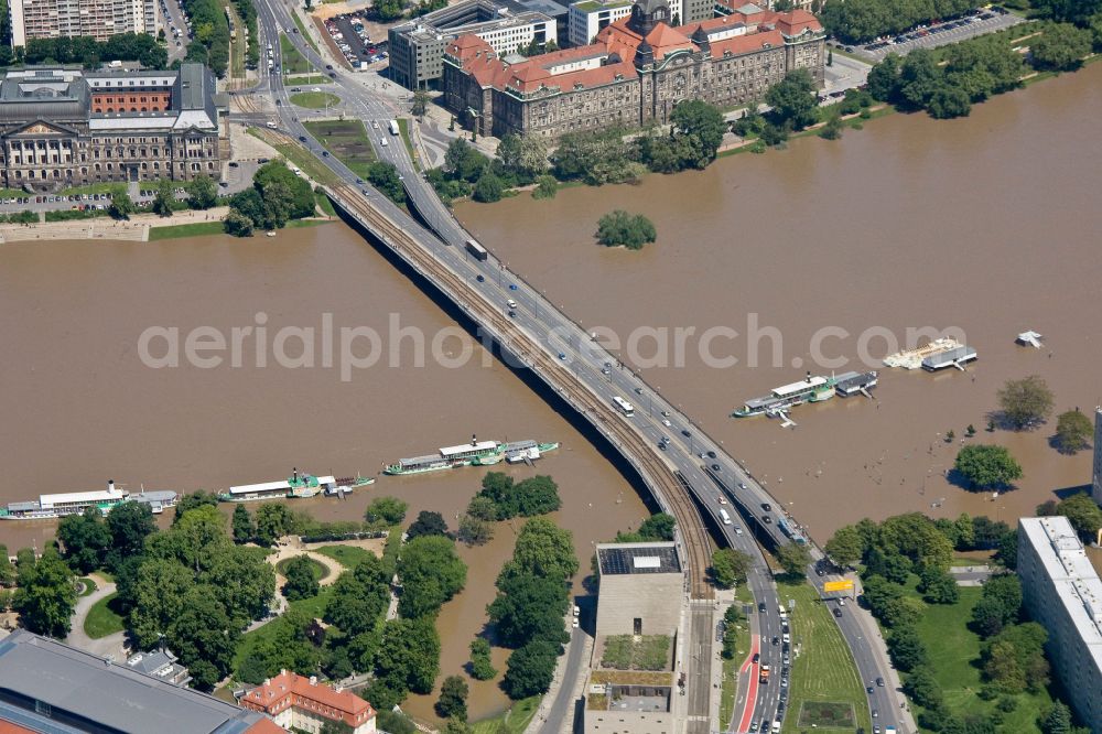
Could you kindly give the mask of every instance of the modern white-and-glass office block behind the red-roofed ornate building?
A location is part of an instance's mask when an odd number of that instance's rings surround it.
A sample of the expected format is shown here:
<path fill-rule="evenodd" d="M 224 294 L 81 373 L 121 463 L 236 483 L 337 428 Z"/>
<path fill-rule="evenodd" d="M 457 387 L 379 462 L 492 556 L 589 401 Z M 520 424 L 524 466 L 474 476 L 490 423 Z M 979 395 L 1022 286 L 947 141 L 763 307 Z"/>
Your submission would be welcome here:
<path fill-rule="evenodd" d="M 566 8 L 550 0 L 464 0 L 390 29 L 390 78 L 407 89 L 435 83 L 444 47 L 465 34 L 503 56 L 532 41 L 558 43 L 559 18 L 566 20 Z"/>

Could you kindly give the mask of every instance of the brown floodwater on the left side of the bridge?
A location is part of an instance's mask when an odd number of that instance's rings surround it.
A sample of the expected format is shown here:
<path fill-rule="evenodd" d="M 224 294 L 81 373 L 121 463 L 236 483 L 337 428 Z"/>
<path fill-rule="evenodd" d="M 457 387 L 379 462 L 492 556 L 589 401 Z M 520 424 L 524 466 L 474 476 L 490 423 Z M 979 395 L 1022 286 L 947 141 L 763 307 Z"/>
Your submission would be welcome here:
<path fill-rule="evenodd" d="M 466 334 L 442 343 L 455 357 L 463 344 L 474 356 L 447 368 L 401 345 L 401 367 L 389 359 L 354 370 L 290 369 L 269 354 L 256 367 L 248 343 L 242 367 L 182 366 L 151 369 L 138 356 L 150 326 L 198 326 L 226 334 L 267 315 L 269 343 L 283 326 L 320 330 L 322 314 L 335 328 L 370 326 L 382 335 L 390 314 L 426 342 L 452 319 L 356 233 L 334 224 L 293 229 L 279 237 L 228 237 L 163 242 L 42 242 L 0 246 L 0 501 L 39 494 L 98 489 L 108 478 L 138 490 L 225 489 L 280 479 L 292 467 L 338 476 L 378 473 L 383 462 L 431 453 L 479 439 L 560 441 L 562 447 L 527 466 L 499 467 L 517 478 L 537 473 L 560 486 L 555 519 L 574 533 L 582 575 L 592 542 L 638 527 L 648 515 L 617 468 L 515 374 Z M 320 337 L 315 352 L 321 350 Z M 182 346 L 183 349 L 183 346 Z M 288 354 L 298 354 L 293 341 Z M 431 354 L 431 345 L 426 346 Z M 156 345 L 150 352 L 162 354 Z M 271 353 L 271 344 L 269 344 Z M 360 345 L 358 353 L 365 353 Z M 468 467 L 411 477 L 380 477 L 346 501 L 313 498 L 289 503 L 325 520 L 359 519 L 375 496 L 410 504 L 407 525 L 420 510 L 440 511 L 451 528 L 478 490 L 487 469 Z M 229 514 L 233 506 L 223 505 Z M 250 505 L 256 510 L 256 504 Z M 160 518 L 168 525 L 172 511 Z M 441 680 L 462 672 L 467 646 L 486 619 L 494 580 L 512 554 L 521 522 L 498 523 L 493 542 L 460 553 L 469 564 L 466 590 L 441 612 Z M 40 550 L 56 522 L 0 522 L 0 542 L 14 551 Z M 495 649 L 504 672 L 505 656 Z M 495 682 L 471 681 L 471 714 L 507 705 Z M 435 697 L 411 697 L 408 708 L 432 717 Z"/>

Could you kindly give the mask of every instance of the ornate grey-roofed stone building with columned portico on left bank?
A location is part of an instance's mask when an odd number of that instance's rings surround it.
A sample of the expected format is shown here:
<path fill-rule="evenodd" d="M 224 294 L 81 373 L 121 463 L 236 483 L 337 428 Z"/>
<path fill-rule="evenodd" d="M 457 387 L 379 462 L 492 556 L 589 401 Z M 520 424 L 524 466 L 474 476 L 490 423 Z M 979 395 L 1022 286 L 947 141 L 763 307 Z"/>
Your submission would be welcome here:
<path fill-rule="evenodd" d="M 168 72 L 29 67 L 0 78 L 0 185 L 31 191 L 199 173 L 225 145 L 215 79 L 202 64 Z"/>

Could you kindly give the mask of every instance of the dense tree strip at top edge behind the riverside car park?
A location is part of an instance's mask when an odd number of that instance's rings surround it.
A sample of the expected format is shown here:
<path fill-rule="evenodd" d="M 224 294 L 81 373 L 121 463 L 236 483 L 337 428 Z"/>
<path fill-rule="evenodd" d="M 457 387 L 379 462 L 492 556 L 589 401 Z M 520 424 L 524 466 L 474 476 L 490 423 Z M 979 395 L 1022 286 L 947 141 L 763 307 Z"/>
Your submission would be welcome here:
<path fill-rule="evenodd" d="M 895 35 L 934 18 L 954 18 L 982 3 L 976 0 L 845 0 L 827 2 L 823 28 L 845 43 L 864 43 Z"/>

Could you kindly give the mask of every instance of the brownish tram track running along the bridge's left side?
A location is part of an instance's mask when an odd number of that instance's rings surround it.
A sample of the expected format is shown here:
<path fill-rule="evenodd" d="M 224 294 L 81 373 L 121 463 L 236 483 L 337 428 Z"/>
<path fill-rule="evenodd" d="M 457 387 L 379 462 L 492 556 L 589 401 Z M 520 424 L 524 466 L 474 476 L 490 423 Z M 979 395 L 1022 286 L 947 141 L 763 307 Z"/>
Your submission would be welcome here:
<path fill-rule="evenodd" d="M 399 257 L 414 266 L 422 276 L 433 281 L 437 289 L 451 295 L 458 304 L 472 313 L 478 313 L 480 325 L 501 345 L 530 361 L 530 367 L 543 376 L 544 381 L 560 392 L 568 402 L 583 415 L 592 415 L 594 427 L 619 449 L 645 484 L 656 490 L 659 504 L 668 509 L 677 520 L 678 533 L 684 549 L 688 575 L 688 592 L 692 598 L 714 598 L 715 590 L 707 582 L 711 564 L 711 541 L 702 526 L 693 503 L 691 490 L 681 476 L 634 427 L 625 423 L 623 417 L 606 406 L 569 368 L 555 361 L 543 347 L 515 323 L 497 313 L 486 296 L 472 288 L 440 262 L 418 240 L 369 203 L 363 201 L 359 192 L 347 184 L 332 187 L 341 204 L 364 222 L 385 235 L 383 244 L 395 249 Z M 388 241 L 389 240 L 389 241 Z M 485 307 L 475 309 L 475 304 Z M 522 348 L 521 348 L 522 347 Z M 663 501 L 665 500 L 665 501 Z M 666 509 L 666 508 L 663 508 Z"/>

